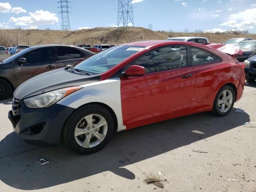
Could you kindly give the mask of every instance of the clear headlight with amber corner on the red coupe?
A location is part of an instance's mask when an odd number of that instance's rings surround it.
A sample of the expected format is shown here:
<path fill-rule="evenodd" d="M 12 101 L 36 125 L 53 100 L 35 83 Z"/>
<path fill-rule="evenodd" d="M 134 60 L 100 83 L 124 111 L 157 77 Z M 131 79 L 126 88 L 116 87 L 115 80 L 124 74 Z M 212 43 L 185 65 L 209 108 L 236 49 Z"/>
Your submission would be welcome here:
<path fill-rule="evenodd" d="M 57 89 L 44 94 L 26 98 L 24 99 L 24 103 L 29 108 L 46 108 L 52 106 L 62 98 L 80 89 L 82 89 L 81 86 Z"/>

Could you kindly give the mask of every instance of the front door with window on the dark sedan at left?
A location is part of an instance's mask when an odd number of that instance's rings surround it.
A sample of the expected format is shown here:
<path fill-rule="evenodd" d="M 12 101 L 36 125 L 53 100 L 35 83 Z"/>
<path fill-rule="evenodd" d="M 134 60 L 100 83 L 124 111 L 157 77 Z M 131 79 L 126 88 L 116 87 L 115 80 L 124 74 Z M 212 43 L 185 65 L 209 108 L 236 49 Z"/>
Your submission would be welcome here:
<path fill-rule="evenodd" d="M 40 48 L 22 56 L 26 59 L 26 63 L 19 63 L 17 60 L 15 63 L 17 84 L 20 85 L 38 74 L 54 70 L 56 67 L 53 52 L 52 47 Z"/>

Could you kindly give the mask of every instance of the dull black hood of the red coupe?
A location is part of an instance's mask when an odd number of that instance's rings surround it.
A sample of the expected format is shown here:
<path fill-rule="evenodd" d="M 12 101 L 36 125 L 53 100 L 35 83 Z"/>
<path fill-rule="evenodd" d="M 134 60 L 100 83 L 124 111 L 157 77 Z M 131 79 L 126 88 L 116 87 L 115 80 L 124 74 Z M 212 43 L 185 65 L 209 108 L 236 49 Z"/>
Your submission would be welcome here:
<path fill-rule="evenodd" d="M 22 83 L 13 95 L 16 99 L 22 100 L 31 96 L 49 92 L 52 90 L 78 86 L 100 81 L 100 75 L 86 76 L 68 72 L 65 68 L 52 70 L 35 76 Z"/>

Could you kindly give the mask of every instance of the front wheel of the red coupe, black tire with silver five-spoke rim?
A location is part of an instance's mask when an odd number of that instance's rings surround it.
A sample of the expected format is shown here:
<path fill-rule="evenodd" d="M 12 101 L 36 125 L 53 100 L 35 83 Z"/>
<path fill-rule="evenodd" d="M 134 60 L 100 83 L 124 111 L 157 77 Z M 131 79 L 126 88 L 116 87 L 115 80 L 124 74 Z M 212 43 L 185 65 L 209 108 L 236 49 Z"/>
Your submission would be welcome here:
<path fill-rule="evenodd" d="M 110 112 L 100 105 L 91 104 L 76 110 L 68 118 L 62 139 L 72 151 L 92 154 L 106 146 L 113 132 L 114 120 Z"/>

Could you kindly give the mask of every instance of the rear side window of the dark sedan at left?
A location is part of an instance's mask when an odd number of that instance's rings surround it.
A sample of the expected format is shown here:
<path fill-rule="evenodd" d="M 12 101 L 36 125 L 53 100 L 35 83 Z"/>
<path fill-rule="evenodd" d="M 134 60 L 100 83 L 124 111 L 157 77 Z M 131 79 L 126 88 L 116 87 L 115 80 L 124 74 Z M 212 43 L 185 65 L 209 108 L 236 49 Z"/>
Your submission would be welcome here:
<path fill-rule="evenodd" d="M 80 58 L 80 52 L 72 47 L 57 47 L 58 58 L 57 60 Z"/>

